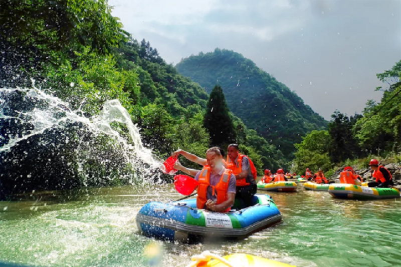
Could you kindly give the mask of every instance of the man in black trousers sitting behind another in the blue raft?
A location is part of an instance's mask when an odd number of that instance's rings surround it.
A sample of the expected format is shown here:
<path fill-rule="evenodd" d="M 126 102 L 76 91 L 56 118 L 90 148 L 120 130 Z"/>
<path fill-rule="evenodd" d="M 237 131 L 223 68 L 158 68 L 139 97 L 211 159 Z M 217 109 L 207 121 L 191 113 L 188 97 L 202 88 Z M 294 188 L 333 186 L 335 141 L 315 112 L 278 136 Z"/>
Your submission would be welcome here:
<path fill-rule="evenodd" d="M 248 156 L 239 153 L 237 144 L 229 145 L 227 154 L 227 167 L 234 172 L 237 179 L 237 194 L 235 197 L 244 200 L 245 206 L 250 207 L 254 204 L 252 198 L 257 190 L 255 181 L 256 169 Z"/>

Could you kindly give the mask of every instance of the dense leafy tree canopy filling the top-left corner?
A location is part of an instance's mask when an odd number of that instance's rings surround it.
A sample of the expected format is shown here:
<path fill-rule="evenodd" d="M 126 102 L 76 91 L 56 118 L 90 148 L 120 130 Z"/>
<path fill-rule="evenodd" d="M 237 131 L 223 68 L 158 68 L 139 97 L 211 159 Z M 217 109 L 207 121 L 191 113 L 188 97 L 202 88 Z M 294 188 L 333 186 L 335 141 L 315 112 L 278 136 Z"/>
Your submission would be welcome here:
<path fill-rule="evenodd" d="M 46 65 L 56 68 L 65 60 L 74 62 L 75 52 L 86 49 L 106 55 L 127 37 L 106 0 L 2 1 L 0 32 L 0 50 L 5 51 L 2 85 L 41 80 L 40 71 Z M 39 72 L 36 77 L 34 70 Z"/>

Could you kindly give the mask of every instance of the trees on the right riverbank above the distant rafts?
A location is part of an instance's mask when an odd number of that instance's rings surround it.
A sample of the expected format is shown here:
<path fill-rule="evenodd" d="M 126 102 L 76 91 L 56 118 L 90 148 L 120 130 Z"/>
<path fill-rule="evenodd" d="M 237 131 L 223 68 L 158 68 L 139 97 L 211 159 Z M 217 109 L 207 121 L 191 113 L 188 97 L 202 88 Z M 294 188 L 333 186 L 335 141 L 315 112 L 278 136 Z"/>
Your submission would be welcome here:
<path fill-rule="evenodd" d="M 328 131 L 312 132 L 300 144 L 296 144 L 297 152 L 293 161 L 295 169 L 303 171 L 305 167 L 329 167 L 330 160 L 336 163 L 336 168 L 352 166 L 357 169 L 365 168 L 371 158 L 386 157 L 389 158 L 386 161 L 399 161 L 400 77 L 401 61 L 391 70 L 377 74 L 380 81 L 389 85 L 380 103 L 367 101 L 363 116 L 348 118 L 336 111 L 331 116 Z"/>

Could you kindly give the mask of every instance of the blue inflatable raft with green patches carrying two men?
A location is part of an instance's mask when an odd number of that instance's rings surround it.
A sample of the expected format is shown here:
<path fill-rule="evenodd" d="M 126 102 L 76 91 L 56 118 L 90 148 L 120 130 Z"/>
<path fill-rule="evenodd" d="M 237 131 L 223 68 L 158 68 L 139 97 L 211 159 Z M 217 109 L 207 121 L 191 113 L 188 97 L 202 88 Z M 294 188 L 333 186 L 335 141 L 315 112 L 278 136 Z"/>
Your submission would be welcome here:
<path fill-rule="evenodd" d="M 244 238 L 281 221 L 281 214 L 269 195 L 256 194 L 254 205 L 228 213 L 196 208 L 196 199 L 178 202 L 149 202 L 136 216 L 144 235 L 167 240 L 196 241 L 205 236 Z"/>

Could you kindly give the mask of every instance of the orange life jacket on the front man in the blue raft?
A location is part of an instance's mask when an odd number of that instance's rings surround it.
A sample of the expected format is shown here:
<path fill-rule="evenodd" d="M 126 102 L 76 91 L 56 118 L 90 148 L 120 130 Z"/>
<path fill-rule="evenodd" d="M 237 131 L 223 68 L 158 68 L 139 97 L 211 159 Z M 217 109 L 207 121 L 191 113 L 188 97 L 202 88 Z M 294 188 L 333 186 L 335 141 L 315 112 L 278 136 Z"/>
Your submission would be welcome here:
<path fill-rule="evenodd" d="M 230 177 L 233 171 L 226 169 L 216 186 L 210 184 L 210 167 L 205 166 L 199 175 L 199 185 L 197 187 L 196 207 L 205 208 L 206 201 L 208 201 L 208 187 L 212 186 L 213 195 L 217 191 L 216 204 L 221 204 L 228 199 L 227 190 L 229 189 Z M 231 207 L 223 212 L 230 211 Z"/>

